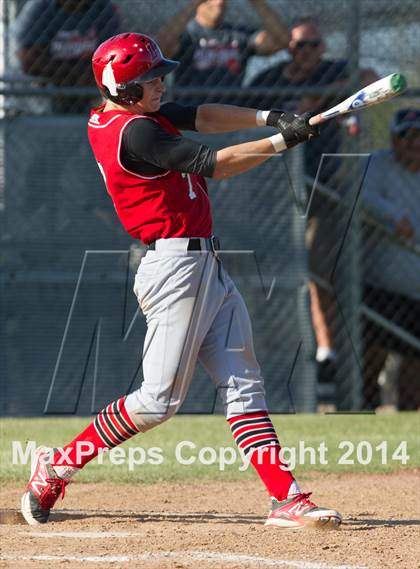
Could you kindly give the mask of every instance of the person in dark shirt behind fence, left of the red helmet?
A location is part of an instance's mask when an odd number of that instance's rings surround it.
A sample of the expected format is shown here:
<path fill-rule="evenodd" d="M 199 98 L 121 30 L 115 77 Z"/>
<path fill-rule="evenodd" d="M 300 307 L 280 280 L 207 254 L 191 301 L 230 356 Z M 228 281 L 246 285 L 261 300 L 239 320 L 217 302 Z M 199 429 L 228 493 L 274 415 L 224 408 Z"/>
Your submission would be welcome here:
<path fill-rule="evenodd" d="M 28 75 L 55 86 L 94 86 L 95 49 L 119 31 L 109 0 L 29 0 L 15 25 L 17 56 Z M 92 99 L 55 96 L 53 112 L 87 112 Z"/>

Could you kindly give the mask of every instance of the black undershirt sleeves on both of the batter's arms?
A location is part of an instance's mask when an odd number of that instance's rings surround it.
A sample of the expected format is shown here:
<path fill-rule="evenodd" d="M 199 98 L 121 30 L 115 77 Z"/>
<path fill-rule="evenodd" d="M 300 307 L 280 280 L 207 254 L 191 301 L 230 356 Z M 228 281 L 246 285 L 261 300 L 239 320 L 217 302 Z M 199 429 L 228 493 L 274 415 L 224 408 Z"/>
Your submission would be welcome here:
<path fill-rule="evenodd" d="M 195 128 L 195 112 L 183 114 L 179 112 L 180 105 L 173 104 L 175 108 L 168 109 L 169 105 L 162 107 L 161 114 L 172 124 L 177 128 Z M 194 107 L 185 108 L 195 110 Z M 211 178 L 217 151 L 184 136 L 169 133 L 152 117 L 133 120 L 125 128 L 121 147 L 123 166 L 144 176 L 156 176 L 172 170 Z"/>

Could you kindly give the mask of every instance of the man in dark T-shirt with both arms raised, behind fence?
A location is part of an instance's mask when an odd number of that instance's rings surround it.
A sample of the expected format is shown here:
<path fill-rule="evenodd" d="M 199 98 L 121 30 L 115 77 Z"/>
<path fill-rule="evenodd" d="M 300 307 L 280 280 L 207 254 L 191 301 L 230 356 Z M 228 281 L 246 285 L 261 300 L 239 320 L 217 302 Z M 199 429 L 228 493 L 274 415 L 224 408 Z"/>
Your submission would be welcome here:
<path fill-rule="evenodd" d="M 249 0 L 264 29 L 224 21 L 225 0 L 194 0 L 160 30 L 158 43 L 166 57 L 180 66 L 175 84 L 184 87 L 232 87 L 242 84 L 252 55 L 270 55 L 288 45 L 289 32 L 278 13 L 265 0 Z M 229 98 L 232 101 L 232 98 Z M 228 99 L 218 102 L 227 102 Z M 191 98 L 188 102 L 200 103 Z"/>

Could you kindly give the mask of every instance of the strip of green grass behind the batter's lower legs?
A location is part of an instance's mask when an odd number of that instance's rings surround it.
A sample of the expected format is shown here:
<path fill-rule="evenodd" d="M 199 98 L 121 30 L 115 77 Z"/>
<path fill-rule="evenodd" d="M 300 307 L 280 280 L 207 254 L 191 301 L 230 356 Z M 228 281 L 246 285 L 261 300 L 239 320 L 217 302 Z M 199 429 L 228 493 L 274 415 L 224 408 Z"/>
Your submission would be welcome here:
<path fill-rule="evenodd" d="M 328 464 L 321 464 L 319 455 L 315 464 L 309 464 L 306 454 L 305 463 L 296 467 L 296 474 L 302 478 L 311 471 L 322 472 L 391 472 L 400 469 L 420 467 L 419 440 L 420 414 L 395 413 L 383 415 L 274 415 L 273 422 L 283 446 L 299 448 L 299 441 L 305 447 L 317 448 L 324 443 L 328 451 L 325 458 Z M 22 447 L 26 441 L 36 441 L 36 444 L 47 446 L 62 446 L 78 434 L 90 421 L 90 418 L 36 418 L 36 419 L 3 419 L 0 421 L 0 480 L 19 481 L 27 479 L 29 464 L 12 464 L 12 441 L 20 441 Z M 223 447 L 235 448 L 228 426 L 221 416 L 178 416 L 149 431 L 138 435 L 124 443 L 121 448 L 133 452 L 134 447 L 142 447 L 144 452 L 150 452 L 152 447 L 161 449 L 163 462 L 159 465 L 145 463 L 133 466 L 130 470 L 127 462 L 111 464 L 109 456 L 105 455 L 103 464 L 95 459 L 78 477 L 84 482 L 112 481 L 119 483 L 142 482 L 150 483 L 159 480 L 236 480 L 254 477 L 252 467 L 241 472 L 242 462 L 226 466 L 225 470 L 219 464 L 205 465 L 198 460 L 192 465 L 180 464 L 175 458 L 175 448 L 182 441 L 191 441 L 196 449 L 185 448 L 184 456 L 198 456 L 203 447 L 212 447 L 220 453 Z M 342 449 L 339 444 L 350 441 L 354 451 L 349 456 L 354 464 L 339 464 L 347 446 Z M 372 448 L 372 459 L 369 464 L 360 464 L 356 449 L 361 441 L 366 441 Z M 382 454 L 375 447 L 386 442 L 387 452 L 384 454 L 386 464 L 381 464 Z M 402 441 L 407 443 L 409 459 L 406 464 L 393 460 L 392 454 Z M 302 443 L 301 443 L 302 444 Z M 363 447 L 363 448 L 362 448 Z M 366 452 L 363 443 L 360 450 Z M 141 451 L 136 451 L 140 457 Z M 384 449 L 385 452 L 385 449 Z M 207 455 L 208 456 L 208 455 Z M 297 455 L 298 456 L 298 455 Z M 286 458 L 288 455 L 286 454 Z M 365 460 L 365 454 L 361 459 Z M 395 458 L 395 457 L 394 457 Z"/>

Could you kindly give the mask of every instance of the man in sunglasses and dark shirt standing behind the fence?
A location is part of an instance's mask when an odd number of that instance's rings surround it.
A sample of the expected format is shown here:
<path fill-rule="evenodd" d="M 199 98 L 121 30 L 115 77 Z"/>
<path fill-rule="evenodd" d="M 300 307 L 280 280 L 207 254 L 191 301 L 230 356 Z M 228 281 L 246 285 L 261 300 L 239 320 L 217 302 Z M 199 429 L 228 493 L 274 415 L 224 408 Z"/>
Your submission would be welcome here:
<path fill-rule="evenodd" d="M 338 88 L 342 92 L 348 88 L 350 70 L 344 60 L 325 59 L 325 43 L 318 21 L 313 17 L 296 20 L 290 29 L 290 59 L 281 61 L 264 70 L 251 82 L 254 87 Z M 371 70 L 362 70 L 363 84 L 378 78 Z M 336 104 L 342 95 L 302 96 L 300 93 L 259 97 L 259 105 L 264 108 L 279 108 L 295 113 L 321 112 Z M 329 121 L 321 128 L 321 135 L 304 145 L 305 172 L 315 179 L 323 154 L 340 152 L 342 125 L 339 119 Z M 353 132 L 350 132 L 353 134 Z M 338 157 L 324 157 L 318 173 L 318 181 L 331 189 L 338 189 Z M 312 189 L 312 188 L 311 188 Z M 309 193 L 308 193 L 309 199 Z M 339 239 L 336 230 L 336 206 L 319 191 L 315 191 L 308 211 L 306 242 L 309 251 L 309 270 L 329 281 L 337 255 Z M 330 382 L 335 375 L 334 320 L 335 302 L 331 292 L 313 280 L 309 283 L 311 295 L 312 320 L 317 340 L 316 360 L 319 380 Z"/>

